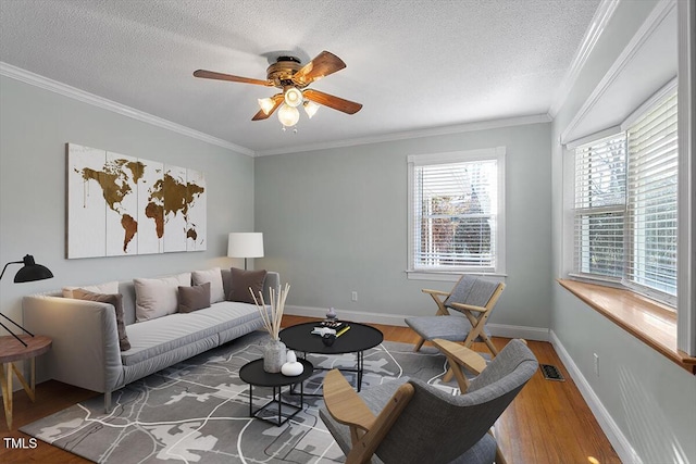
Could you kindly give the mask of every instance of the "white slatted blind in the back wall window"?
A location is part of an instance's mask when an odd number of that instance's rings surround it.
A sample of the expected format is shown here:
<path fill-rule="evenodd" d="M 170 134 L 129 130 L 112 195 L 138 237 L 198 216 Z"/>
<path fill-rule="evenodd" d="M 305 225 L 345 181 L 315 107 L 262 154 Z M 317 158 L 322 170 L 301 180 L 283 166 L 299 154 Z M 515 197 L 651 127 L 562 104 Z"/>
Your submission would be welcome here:
<path fill-rule="evenodd" d="M 413 167 L 413 268 L 496 267 L 496 160 Z"/>

